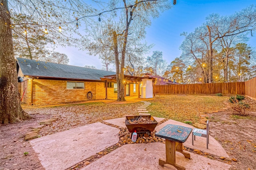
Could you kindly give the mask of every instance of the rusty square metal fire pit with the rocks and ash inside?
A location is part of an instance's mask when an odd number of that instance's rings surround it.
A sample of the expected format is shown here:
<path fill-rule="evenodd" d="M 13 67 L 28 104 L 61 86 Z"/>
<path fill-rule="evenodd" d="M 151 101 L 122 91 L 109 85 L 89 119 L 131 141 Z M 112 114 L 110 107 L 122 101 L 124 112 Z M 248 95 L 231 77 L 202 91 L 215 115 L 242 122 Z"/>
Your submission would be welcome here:
<path fill-rule="evenodd" d="M 153 132 L 157 121 L 151 115 L 126 116 L 125 125 L 130 133 Z"/>

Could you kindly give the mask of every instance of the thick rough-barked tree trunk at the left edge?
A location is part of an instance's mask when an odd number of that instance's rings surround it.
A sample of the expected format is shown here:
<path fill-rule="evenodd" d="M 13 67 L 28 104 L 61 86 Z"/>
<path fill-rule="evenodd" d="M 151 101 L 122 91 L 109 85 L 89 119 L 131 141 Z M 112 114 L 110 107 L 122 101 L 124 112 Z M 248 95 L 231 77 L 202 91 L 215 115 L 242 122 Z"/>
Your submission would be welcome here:
<path fill-rule="evenodd" d="M 0 122 L 14 123 L 30 116 L 20 106 L 16 61 L 7 0 L 0 0 Z"/>

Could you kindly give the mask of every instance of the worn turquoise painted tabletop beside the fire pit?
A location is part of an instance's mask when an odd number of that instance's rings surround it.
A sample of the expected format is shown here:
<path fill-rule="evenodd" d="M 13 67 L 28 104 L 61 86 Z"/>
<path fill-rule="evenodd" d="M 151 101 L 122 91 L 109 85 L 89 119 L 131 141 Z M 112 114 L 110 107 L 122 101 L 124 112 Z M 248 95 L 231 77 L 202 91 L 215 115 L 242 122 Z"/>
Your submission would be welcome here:
<path fill-rule="evenodd" d="M 191 132 L 192 129 L 189 127 L 169 124 L 160 129 L 160 131 L 156 132 L 155 136 L 168 139 L 170 141 L 184 143 L 188 139 Z"/>

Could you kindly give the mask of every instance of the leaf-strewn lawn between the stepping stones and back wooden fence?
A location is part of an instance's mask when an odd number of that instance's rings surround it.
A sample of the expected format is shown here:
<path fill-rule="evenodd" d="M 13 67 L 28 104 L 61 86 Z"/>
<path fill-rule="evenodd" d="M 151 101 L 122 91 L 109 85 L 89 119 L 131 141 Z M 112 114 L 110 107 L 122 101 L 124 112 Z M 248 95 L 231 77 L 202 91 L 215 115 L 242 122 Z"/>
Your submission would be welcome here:
<path fill-rule="evenodd" d="M 161 98 L 164 96 L 164 98 Z M 199 114 L 225 107 L 228 97 L 200 95 L 158 95 L 147 108 L 152 116 L 164 117 L 180 122 L 198 122 Z"/>

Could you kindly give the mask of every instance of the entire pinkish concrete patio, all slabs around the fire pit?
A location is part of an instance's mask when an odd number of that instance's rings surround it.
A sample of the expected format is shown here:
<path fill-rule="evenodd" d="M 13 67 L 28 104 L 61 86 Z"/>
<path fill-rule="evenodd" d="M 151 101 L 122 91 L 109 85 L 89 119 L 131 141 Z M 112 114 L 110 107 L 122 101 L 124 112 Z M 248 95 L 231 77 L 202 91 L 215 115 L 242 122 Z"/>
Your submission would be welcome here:
<path fill-rule="evenodd" d="M 161 121 L 163 118 L 155 118 Z M 125 117 L 118 119 L 106 120 L 108 123 L 125 126 Z M 158 131 L 164 125 L 176 124 L 186 127 L 190 125 L 168 120 L 156 127 Z M 194 127 L 192 127 L 194 128 Z M 33 149 L 38 154 L 42 166 L 46 170 L 64 170 L 89 158 L 90 156 L 100 152 L 119 141 L 119 129 L 105 125 L 103 123 L 92 123 L 68 131 L 55 133 L 46 137 L 33 139 L 30 141 Z M 218 156 L 228 157 L 221 145 L 212 137 L 210 137 L 209 149 L 206 149 L 206 138 L 197 137 L 194 146 L 191 145 L 192 137 L 184 143 L 185 147 L 203 150 L 205 152 Z M 146 148 L 146 150 L 145 150 Z M 216 160 L 211 160 L 204 156 L 191 153 L 192 159 L 184 158 L 180 153 L 176 152 L 176 161 L 187 170 L 228 170 L 230 165 Z M 80 168 L 80 170 L 174 170 L 173 166 L 158 165 L 158 159 L 165 158 L 165 144 L 163 143 L 142 143 L 123 145 L 122 147 L 106 154 L 102 158 L 92 162 L 88 166 Z"/>

